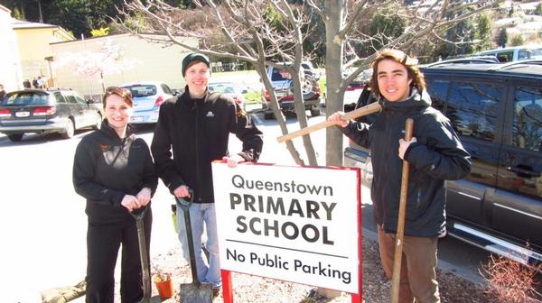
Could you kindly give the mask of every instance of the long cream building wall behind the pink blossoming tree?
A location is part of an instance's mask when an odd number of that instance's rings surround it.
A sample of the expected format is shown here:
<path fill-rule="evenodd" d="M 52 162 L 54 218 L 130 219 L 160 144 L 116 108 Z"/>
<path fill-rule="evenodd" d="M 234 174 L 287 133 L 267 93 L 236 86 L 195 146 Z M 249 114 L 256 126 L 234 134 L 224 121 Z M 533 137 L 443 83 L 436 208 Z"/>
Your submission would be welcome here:
<path fill-rule="evenodd" d="M 159 37 L 159 36 L 155 36 Z M 74 71 L 73 66 L 53 68 L 55 83 L 60 87 L 71 87 L 83 95 L 99 95 L 102 87 L 121 86 L 130 82 L 163 81 L 169 87 L 184 87 L 181 62 L 190 52 L 178 45 L 165 46 L 145 41 L 130 34 L 119 34 L 79 41 L 51 44 L 54 60 L 62 60 L 69 54 L 98 53 L 107 40 L 120 48 L 121 58 L 134 62 L 132 69 L 119 70 L 118 73 L 103 75 L 101 78 L 85 78 Z M 198 41 L 186 38 L 188 45 L 197 47 Z"/>

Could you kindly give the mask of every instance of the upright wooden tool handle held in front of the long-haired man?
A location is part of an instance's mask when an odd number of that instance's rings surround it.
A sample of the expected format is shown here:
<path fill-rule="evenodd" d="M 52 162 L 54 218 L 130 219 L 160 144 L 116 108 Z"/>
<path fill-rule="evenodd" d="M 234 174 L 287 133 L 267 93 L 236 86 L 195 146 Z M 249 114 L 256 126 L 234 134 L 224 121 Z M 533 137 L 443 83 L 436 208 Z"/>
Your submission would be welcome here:
<path fill-rule="evenodd" d="M 405 122 L 405 141 L 412 139 L 414 130 L 414 121 L 411 118 Z M 391 302 L 397 303 L 399 300 L 399 282 L 401 278 L 401 259 L 403 256 L 403 237 L 405 234 L 405 213 L 406 213 L 406 195 L 408 191 L 408 162 L 403 160 L 403 171 L 401 176 L 401 194 L 399 196 L 399 214 L 397 216 L 397 235 L 395 254 L 393 258 L 393 275 L 391 276 Z"/>

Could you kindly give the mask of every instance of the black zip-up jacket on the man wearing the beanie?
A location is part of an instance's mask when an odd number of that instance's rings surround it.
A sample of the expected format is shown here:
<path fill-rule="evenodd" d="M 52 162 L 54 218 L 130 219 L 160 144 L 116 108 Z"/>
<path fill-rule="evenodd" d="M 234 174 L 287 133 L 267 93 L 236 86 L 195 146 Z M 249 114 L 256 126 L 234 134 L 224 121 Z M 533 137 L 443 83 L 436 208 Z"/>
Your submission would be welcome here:
<path fill-rule="evenodd" d="M 229 133 L 243 142 L 238 155 L 257 161 L 262 133 L 250 117 L 229 96 L 208 91 L 192 99 L 187 86 L 160 106 L 151 144 L 158 177 L 172 194 L 186 185 L 194 190 L 194 203 L 214 202 L 210 163 L 229 155 Z"/>

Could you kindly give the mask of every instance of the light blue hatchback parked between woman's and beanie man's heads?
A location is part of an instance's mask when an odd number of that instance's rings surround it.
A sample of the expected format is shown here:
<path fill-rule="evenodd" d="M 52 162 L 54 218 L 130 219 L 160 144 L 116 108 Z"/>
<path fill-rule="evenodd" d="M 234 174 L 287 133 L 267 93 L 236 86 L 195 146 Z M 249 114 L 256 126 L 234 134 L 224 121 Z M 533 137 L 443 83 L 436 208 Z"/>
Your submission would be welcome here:
<path fill-rule="evenodd" d="M 130 124 L 154 124 L 158 121 L 158 111 L 165 100 L 176 93 L 165 83 L 147 81 L 122 85 L 132 92 L 134 114 Z"/>

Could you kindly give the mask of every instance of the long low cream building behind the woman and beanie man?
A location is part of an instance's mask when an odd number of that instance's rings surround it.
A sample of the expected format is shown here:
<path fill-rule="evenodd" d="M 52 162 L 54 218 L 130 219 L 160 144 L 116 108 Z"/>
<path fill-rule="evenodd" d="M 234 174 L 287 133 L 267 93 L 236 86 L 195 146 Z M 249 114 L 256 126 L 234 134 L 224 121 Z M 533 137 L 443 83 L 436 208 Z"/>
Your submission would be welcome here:
<path fill-rule="evenodd" d="M 146 37 L 167 40 L 165 36 Z M 184 38 L 184 42 L 198 47 L 196 39 Z M 103 87 L 131 82 L 162 81 L 172 88 L 184 87 L 181 62 L 190 52 L 128 33 L 51 43 L 51 49 L 56 86 L 94 96 L 100 95 Z"/>

